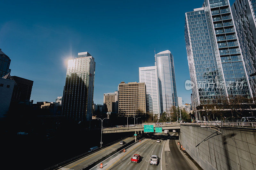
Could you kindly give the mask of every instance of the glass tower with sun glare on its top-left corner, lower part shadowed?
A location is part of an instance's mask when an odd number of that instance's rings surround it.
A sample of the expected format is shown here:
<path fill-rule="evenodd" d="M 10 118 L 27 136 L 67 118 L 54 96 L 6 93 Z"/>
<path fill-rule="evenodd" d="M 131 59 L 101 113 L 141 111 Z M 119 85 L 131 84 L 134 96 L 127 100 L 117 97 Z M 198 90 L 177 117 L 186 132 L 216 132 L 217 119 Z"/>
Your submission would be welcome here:
<path fill-rule="evenodd" d="M 92 120 L 95 62 L 88 52 L 78 53 L 68 60 L 62 115 L 85 123 Z"/>

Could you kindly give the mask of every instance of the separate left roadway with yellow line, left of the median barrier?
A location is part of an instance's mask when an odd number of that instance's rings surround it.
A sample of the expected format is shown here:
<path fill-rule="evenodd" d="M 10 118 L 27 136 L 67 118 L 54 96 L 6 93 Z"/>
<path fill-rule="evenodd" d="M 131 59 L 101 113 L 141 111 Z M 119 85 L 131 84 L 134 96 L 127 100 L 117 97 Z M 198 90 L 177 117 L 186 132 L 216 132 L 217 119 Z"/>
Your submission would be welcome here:
<path fill-rule="evenodd" d="M 130 142 L 134 140 L 134 137 L 128 137 L 126 139 L 124 139 L 123 141 L 125 141 L 126 143 Z M 107 148 L 101 149 L 95 153 L 92 153 L 82 159 L 79 159 L 71 164 L 68 164 L 62 168 L 60 168 L 60 170 L 67 170 L 67 169 L 72 169 L 72 170 L 80 170 L 81 168 L 91 164 L 92 162 L 94 162 L 95 160 L 100 159 L 101 157 L 107 155 L 108 153 L 116 150 L 117 148 L 119 148 L 121 145 L 119 144 L 119 142 L 108 146 Z"/>

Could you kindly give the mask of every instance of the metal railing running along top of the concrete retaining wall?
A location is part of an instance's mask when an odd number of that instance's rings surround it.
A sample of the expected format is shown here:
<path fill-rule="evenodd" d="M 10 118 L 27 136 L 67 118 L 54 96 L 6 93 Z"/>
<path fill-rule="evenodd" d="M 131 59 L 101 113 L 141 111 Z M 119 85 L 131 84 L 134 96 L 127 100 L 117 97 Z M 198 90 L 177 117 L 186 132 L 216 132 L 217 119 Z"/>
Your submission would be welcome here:
<path fill-rule="evenodd" d="M 256 128 L 256 122 L 198 122 L 181 123 L 181 125 L 210 125 L 210 126 L 231 126 L 231 127 L 252 127 Z"/>

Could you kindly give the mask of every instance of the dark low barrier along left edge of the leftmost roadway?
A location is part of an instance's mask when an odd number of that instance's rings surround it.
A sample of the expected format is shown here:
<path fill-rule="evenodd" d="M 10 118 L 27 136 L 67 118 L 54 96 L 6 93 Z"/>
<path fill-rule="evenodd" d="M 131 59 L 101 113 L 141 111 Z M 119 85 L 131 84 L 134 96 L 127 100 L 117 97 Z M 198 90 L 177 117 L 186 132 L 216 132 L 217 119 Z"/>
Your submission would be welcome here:
<path fill-rule="evenodd" d="M 116 141 L 114 141 L 114 142 L 111 142 L 111 143 L 109 143 L 109 144 L 105 144 L 105 145 L 103 145 L 102 147 L 99 147 L 98 149 L 93 150 L 92 152 L 85 152 L 85 153 L 83 153 L 83 154 L 81 154 L 81 155 L 78 155 L 78 156 L 76 156 L 76 157 L 74 157 L 74 158 L 71 158 L 71 159 L 68 159 L 68 160 L 66 160 L 66 161 L 60 162 L 59 164 L 56 164 L 56 165 L 51 166 L 51 167 L 49 167 L 49 168 L 46 168 L 46 169 L 44 169 L 44 170 L 55 170 L 55 169 L 59 169 L 60 167 L 66 166 L 66 165 L 68 165 L 68 164 L 70 164 L 70 163 L 72 163 L 72 162 L 75 162 L 76 160 L 82 159 L 82 158 L 84 158 L 84 157 L 86 157 L 86 156 L 88 156 L 88 155 L 90 155 L 90 154 L 92 154 L 92 153 L 95 153 L 95 152 L 97 152 L 97 151 L 99 151 L 99 150 L 101 150 L 101 149 L 104 149 L 104 148 L 106 148 L 106 147 L 112 145 L 112 144 L 115 144 L 116 142 L 118 142 L 118 141 L 120 141 L 120 140 L 122 140 L 122 139 L 125 139 L 125 138 L 127 138 L 127 137 L 122 137 L 121 139 L 118 139 L 118 140 L 116 140 Z"/>

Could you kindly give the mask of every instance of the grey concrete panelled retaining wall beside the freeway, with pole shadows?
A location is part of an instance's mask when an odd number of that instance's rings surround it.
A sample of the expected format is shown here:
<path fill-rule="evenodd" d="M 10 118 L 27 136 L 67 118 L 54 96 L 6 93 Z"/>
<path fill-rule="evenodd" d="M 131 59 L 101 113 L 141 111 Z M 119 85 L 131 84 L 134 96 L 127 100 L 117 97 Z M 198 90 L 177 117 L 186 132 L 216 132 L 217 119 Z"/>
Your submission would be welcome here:
<path fill-rule="evenodd" d="M 220 129 L 180 125 L 179 140 L 203 169 L 256 170 L 256 129 Z"/>

